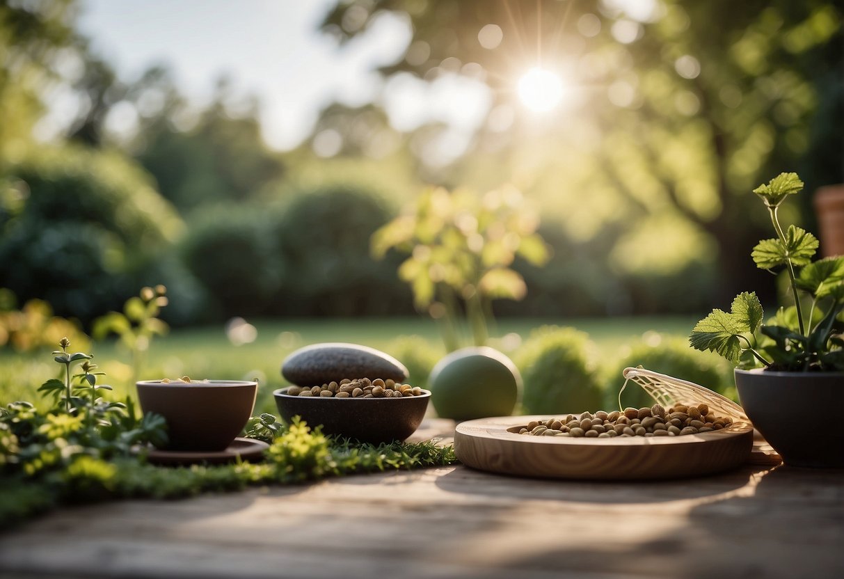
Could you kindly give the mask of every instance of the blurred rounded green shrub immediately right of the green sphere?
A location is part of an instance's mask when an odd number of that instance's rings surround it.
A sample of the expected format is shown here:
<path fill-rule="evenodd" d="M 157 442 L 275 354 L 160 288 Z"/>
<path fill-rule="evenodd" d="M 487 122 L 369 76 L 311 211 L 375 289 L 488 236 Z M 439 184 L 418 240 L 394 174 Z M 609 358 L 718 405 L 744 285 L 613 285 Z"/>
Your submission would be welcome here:
<path fill-rule="evenodd" d="M 580 413 L 600 409 L 602 393 L 591 363 L 593 344 L 571 327 L 544 326 L 517 351 L 526 414 Z"/>

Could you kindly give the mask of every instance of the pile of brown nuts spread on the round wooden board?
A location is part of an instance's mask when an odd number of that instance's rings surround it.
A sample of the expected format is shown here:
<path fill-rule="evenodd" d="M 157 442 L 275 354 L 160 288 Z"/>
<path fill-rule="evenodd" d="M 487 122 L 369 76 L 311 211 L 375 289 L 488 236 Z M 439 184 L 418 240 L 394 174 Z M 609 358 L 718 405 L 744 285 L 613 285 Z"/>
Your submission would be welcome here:
<path fill-rule="evenodd" d="M 693 418 L 696 417 L 696 418 Z M 533 436 L 571 436 L 574 438 L 613 438 L 614 436 L 685 436 L 722 430 L 733 424 L 728 416 L 712 414 L 706 404 L 677 404 L 668 410 L 660 404 L 641 409 L 595 414 L 567 414 L 544 421 L 532 420 L 518 433 Z"/>

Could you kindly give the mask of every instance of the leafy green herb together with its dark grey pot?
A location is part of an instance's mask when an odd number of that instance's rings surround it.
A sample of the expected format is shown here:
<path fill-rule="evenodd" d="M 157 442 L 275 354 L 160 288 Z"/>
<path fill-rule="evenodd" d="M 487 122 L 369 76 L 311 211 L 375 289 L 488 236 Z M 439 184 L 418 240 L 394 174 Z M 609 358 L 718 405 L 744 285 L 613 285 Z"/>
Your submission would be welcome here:
<path fill-rule="evenodd" d="M 690 335 L 695 349 L 721 354 L 735 369 L 738 398 L 756 429 L 799 467 L 844 467 L 844 430 L 827 417 L 844 406 L 844 257 L 813 261 L 817 238 L 790 225 L 778 209 L 803 189 L 796 173 L 782 173 L 754 189 L 771 215 L 776 237 L 760 241 L 756 266 L 785 269 L 793 302 L 765 322 L 755 293 L 713 310 Z"/>

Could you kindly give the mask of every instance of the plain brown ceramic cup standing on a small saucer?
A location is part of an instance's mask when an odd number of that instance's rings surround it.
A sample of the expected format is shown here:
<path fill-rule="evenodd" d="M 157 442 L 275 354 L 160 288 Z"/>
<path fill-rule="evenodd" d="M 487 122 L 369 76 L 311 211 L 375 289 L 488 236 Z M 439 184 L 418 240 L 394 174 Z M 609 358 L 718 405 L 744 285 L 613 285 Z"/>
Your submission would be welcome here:
<path fill-rule="evenodd" d="M 144 413 L 167 421 L 170 451 L 218 452 L 235 440 L 252 416 L 257 381 L 139 381 L 138 401 Z"/>

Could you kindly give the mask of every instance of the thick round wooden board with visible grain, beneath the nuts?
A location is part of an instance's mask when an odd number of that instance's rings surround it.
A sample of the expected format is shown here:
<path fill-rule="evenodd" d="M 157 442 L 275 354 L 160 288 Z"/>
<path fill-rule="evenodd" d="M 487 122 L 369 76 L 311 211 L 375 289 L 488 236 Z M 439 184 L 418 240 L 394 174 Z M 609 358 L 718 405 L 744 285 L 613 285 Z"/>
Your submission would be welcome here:
<path fill-rule="evenodd" d="M 454 452 L 468 467 L 549 479 L 674 479 L 748 461 L 753 426 L 671 437 L 610 439 L 527 436 L 507 429 L 551 416 L 501 416 L 457 425 Z"/>

